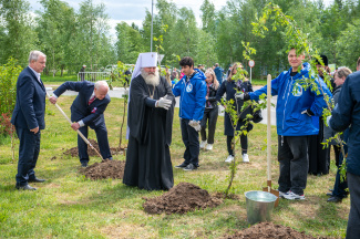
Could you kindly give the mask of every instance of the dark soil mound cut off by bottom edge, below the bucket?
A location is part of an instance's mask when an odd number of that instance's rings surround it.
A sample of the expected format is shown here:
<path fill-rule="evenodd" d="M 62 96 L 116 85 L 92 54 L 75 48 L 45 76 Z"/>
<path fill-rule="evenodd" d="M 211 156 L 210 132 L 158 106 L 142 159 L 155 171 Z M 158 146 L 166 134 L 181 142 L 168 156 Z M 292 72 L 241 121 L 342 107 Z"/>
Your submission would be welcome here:
<path fill-rule="evenodd" d="M 225 236 L 224 239 L 230 238 L 246 238 L 246 239 L 316 239 L 305 232 L 299 232 L 290 227 L 281 225 L 274 225 L 271 222 L 260 222 L 254 225 L 245 230 L 236 231 L 235 235 Z M 319 237 L 322 239 L 325 237 Z"/>

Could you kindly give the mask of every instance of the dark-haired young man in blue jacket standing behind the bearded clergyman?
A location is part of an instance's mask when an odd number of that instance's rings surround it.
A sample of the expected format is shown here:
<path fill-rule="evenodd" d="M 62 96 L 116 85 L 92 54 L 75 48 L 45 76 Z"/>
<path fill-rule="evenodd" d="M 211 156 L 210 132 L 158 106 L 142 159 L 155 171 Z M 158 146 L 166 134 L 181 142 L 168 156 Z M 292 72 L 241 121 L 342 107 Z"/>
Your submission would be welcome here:
<path fill-rule="evenodd" d="M 182 137 L 185 144 L 185 162 L 176 168 L 184 170 L 194 170 L 198 167 L 199 142 L 198 132 L 200 131 L 200 121 L 204 115 L 206 103 L 206 76 L 194 69 L 194 60 L 185 56 L 179 61 L 183 79 L 173 89 L 175 96 L 181 96 L 179 113 Z"/>

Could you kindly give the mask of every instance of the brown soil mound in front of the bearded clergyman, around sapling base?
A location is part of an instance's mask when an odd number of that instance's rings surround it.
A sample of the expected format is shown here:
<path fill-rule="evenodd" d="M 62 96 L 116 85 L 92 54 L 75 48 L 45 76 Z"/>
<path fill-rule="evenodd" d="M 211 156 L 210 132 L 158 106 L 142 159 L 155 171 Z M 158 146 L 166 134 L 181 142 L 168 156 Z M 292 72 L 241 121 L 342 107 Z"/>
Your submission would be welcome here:
<path fill-rule="evenodd" d="M 195 209 L 216 207 L 222 199 L 212 197 L 207 190 L 189 183 L 179 183 L 167 193 L 155 198 L 144 198 L 144 210 L 148 214 L 185 214 Z"/>

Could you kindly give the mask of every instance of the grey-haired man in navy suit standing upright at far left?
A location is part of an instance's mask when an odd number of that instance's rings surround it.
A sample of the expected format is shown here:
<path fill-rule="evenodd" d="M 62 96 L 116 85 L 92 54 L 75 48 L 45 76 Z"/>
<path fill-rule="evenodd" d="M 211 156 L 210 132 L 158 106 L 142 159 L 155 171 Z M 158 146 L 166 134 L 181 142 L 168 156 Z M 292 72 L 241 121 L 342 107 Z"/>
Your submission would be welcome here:
<path fill-rule="evenodd" d="M 17 82 L 17 103 L 11 124 L 16 126 L 19 146 L 17 188 L 37 190 L 28 183 L 42 183 L 35 177 L 35 165 L 40 152 L 41 129 L 45 128 L 45 87 L 40 73 L 45 67 L 47 55 L 40 51 L 30 52 L 29 66 L 19 75 Z"/>

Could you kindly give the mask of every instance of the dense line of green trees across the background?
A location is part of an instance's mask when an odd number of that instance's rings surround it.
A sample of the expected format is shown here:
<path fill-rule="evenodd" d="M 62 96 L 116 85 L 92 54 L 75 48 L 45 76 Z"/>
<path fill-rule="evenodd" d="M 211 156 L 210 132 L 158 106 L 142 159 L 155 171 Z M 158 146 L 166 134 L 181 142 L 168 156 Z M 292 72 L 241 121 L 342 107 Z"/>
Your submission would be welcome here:
<path fill-rule="evenodd" d="M 29 14 L 27 0 L 0 0 L 0 64 L 13 56 L 25 65 L 31 49 L 48 55 L 48 73 L 69 70 L 79 71 L 82 64 L 92 70 L 116 61 L 136 62 L 140 52 L 150 51 L 151 12 L 146 10 L 142 28 L 125 22 L 116 25 L 116 42 L 109 35 L 106 8 L 84 0 L 79 11 L 60 0 L 41 0 L 42 12 L 35 18 Z M 243 59 L 241 42 L 250 42 L 257 50 L 254 60 L 256 77 L 286 70 L 285 45 L 288 41 L 281 28 L 269 31 L 260 39 L 251 33 L 251 22 L 261 14 L 269 0 L 228 0 L 216 11 L 210 0 L 200 6 L 202 27 L 196 23 L 191 8 L 178 8 L 171 0 L 157 0 L 154 15 L 155 38 L 163 37 L 165 54 L 162 64 L 177 66 L 177 58 L 191 55 L 196 64 L 212 66 L 218 62 L 223 67 Z M 274 0 L 282 11 L 294 18 L 297 27 L 308 33 L 312 46 L 326 54 L 330 63 L 347 65 L 354 70 L 360 56 L 357 40 L 360 37 L 360 0 L 335 0 L 325 7 L 322 0 Z M 266 22 L 271 28 L 271 21 Z M 165 28 L 164 28 L 165 27 Z M 166 31 L 164 31 L 166 29 Z"/>

